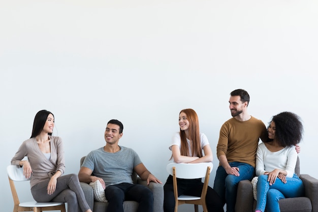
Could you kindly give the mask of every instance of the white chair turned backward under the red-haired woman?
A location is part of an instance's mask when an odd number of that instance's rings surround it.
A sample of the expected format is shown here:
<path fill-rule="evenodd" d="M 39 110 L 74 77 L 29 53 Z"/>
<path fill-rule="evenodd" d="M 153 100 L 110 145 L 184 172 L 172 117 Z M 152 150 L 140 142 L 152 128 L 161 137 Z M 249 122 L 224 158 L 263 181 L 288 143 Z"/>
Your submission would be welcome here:
<path fill-rule="evenodd" d="M 173 191 L 175 197 L 174 211 L 178 211 L 180 204 L 194 204 L 195 211 L 198 212 L 198 205 L 202 205 L 204 212 L 208 212 L 205 202 L 205 196 L 208 189 L 210 173 L 213 163 L 170 163 L 167 165 L 167 171 L 173 176 Z M 177 178 L 181 179 L 198 179 L 205 178 L 201 197 L 180 195 L 178 196 Z"/>

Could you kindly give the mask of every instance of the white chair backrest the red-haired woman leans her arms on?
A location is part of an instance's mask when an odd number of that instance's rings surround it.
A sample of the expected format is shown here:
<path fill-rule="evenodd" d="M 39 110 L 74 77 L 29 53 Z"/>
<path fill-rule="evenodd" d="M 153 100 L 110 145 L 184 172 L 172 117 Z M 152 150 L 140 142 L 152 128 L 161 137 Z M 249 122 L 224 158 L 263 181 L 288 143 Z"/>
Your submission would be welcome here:
<path fill-rule="evenodd" d="M 176 177 L 182 179 L 204 178 L 207 173 L 207 167 L 210 166 L 210 173 L 213 163 L 169 163 L 167 171 L 173 175 L 173 167 L 176 167 Z"/>

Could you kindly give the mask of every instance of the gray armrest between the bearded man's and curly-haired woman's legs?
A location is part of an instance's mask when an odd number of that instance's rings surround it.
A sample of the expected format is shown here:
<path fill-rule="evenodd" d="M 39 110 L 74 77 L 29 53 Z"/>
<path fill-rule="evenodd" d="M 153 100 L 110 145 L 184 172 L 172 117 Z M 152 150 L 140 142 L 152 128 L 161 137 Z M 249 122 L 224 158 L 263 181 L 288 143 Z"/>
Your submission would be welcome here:
<path fill-rule="evenodd" d="M 237 186 L 237 196 L 235 211 L 251 212 L 253 211 L 253 187 L 249 180 L 240 181 Z"/>

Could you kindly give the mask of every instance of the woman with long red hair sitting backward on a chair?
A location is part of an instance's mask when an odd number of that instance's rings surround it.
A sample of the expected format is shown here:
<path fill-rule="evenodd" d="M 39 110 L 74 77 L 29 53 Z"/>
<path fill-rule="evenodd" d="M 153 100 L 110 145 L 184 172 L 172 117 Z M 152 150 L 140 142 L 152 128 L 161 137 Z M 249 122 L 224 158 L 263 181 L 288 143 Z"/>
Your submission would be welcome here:
<path fill-rule="evenodd" d="M 213 156 L 209 141 L 205 134 L 200 133 L 197 113 L 193 109 L 182 110 L 179 113 L 179 126 L 180 132 L 173 135 L 172 143 L 169 146 L 172 151 L 171 159 L 175 163 L 212 162 Z M 177 179 L 177 182 L 178 195 L 201 196 L 203 188 L 201 179 Z M 211 187 L 208 187 L 207 190 L 206 204 L 208 211 L 224 211 L 219 196 Z M 169 175 L 164 186 L 164 211 L 173 212 L 174 208 L 173 179 L 172 175 Z"/>

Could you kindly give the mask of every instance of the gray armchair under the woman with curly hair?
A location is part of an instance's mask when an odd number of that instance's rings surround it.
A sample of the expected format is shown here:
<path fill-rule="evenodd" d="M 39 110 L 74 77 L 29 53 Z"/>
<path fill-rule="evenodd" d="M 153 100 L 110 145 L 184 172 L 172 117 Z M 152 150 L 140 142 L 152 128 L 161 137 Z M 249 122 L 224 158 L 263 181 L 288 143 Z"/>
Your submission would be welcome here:
<path fill-rule="evenodd" d="M 295 172 L 303 181 L 305 186 L 305 196 L 279 200 L 280 211 L 318 212 L 318 180 L 312 178 L 308 174 L 300 174 L 299 158 L 297 159 Z M 251 182 L 248 180 L 239 182 L 235 211 L 252 212 L 255 211 L 255 208 L 256 200 L 253 197 Z"/>

